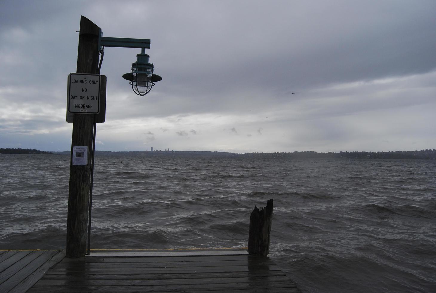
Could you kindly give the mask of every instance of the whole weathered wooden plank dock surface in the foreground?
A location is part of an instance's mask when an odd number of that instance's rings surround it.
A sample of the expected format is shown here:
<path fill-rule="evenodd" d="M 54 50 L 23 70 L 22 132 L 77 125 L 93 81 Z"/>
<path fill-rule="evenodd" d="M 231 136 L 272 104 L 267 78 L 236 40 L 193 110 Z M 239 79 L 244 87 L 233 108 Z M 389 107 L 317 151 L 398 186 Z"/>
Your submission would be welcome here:
<path fill-rule="evenodd" d="M 271 259 L 246 251 L 0 253 L 0 292 L 300 292 Z"/>

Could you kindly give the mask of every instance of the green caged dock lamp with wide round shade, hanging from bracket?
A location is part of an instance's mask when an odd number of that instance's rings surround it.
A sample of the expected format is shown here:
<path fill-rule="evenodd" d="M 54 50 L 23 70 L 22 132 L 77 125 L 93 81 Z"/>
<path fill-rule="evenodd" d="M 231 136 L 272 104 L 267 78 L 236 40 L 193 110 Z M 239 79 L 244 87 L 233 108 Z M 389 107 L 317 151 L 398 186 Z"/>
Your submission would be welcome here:
<path fill-rule="evenodd" d="M 150 55 L 142 53 L 136 55 L 136 62 L 132 63 L 132 72 L 123 74 L 123 79 L 130 80 L 132 90 L 139 96 L 145 96 L 150 92 L 154 83 L 162 80 L 162 77 L 153 74 L 153 63 L 149 63 Z"/>

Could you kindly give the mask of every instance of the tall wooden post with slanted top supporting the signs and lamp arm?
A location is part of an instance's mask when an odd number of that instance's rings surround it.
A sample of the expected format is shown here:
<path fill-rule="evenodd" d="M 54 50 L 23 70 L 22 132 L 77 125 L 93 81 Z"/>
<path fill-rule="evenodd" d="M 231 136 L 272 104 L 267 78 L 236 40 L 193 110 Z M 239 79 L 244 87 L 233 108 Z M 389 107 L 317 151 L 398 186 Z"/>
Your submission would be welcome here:
<path fill-rule="evenodd" d="M 80 18 L 77 73 L 97 73 L 100 28 L 88 18 Z M 91 182 L 91 151 L 94 114 L 74 114 L 71 140 L 70 182 L 68 190 L 67 246 L 68 258 L 86 253 L 89 188 Z M 73 165 L 73 147 L 88 146 L 87 165 Z"/>

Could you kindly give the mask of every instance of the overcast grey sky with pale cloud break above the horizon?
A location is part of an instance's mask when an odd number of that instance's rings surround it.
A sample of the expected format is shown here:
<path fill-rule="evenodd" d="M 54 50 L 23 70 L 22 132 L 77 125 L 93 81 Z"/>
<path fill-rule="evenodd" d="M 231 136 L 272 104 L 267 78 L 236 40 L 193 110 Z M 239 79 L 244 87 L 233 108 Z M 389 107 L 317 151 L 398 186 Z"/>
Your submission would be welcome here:
<path fill-rule="evenodd" d="M 105 48 L 96 149 L 225 152 L 436 148 L 434 0 L 0 0 L 0 147 L 71 149 L 65 121 L 80 16 L 148 38 L 162 76 L 121 76 Z"/>

